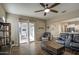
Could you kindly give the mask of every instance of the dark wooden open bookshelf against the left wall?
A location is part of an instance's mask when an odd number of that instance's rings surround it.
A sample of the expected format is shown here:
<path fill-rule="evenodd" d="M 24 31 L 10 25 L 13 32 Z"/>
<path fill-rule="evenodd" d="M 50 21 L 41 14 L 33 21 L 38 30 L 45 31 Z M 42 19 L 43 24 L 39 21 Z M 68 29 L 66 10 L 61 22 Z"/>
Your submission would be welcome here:
<path fill-rule="evenodd" d="M 11 24 L 0 22 L 0 47 L 11 46 Z"/>

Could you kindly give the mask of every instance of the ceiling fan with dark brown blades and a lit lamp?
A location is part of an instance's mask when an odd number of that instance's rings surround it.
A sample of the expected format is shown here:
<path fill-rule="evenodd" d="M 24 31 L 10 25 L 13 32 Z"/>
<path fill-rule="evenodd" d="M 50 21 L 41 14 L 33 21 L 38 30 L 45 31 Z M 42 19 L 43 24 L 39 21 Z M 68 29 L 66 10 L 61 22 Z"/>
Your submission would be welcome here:
<path fill-rule="evenodd" d="M 38 10 L 38 11 L 35 11 L 35 12 L 42 12 L 42 11 L 44 11 L 44 16 L 46 16 L 46 14 L 47 14 L 48 12 L 58 13 L 57 10 L 54 10 L 54 9 L 51 9 L 51 8 L 53 8 L 53 7 L 55 7 L 55 6 L 59 5 L 59 4 L 60 4 L 60 3 L 54 3 L 53 5 L 51 5 L 51 6 L 48 7 L 48 4 L 40 3 L 40 5 L 41 5 L 44 9 L 43 9 L 43 10 Z"/>

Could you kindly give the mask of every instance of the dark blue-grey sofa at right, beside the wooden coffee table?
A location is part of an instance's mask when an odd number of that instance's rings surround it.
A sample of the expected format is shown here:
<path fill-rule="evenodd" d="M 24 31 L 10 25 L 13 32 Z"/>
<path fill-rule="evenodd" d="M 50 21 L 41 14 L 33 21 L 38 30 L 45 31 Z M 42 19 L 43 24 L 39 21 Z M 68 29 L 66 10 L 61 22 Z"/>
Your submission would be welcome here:
<path fill-rule="evenodd" d="M 79 51 L 79 34 L 60 34 L 60 37 L 56 41 L 59 44 L 75 51 Z"/>

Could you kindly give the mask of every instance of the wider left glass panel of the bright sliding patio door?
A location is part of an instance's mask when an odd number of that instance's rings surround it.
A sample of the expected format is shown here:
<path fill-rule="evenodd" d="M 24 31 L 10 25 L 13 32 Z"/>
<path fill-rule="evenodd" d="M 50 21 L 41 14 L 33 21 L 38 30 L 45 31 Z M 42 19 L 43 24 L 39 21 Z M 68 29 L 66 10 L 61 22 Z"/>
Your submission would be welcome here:
<path fill-rule="evenodd" d="M 20 23 L 20 43 L 28 42 L 28 23 Z"/>

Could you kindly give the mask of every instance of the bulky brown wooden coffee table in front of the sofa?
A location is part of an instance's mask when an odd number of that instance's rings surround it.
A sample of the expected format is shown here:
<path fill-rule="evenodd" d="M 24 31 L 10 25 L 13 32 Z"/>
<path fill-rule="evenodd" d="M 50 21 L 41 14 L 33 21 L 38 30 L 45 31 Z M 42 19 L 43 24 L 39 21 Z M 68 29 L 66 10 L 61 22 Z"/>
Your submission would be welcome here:
<path fill-rule="evenodd" d="M 64 53 L 64 46 L 61 44 L 58 44 L 55 41 L 46 41 L 45 43 L 42 43 L 44 46 L 42 47 L 45 51 L 49 52 L 50 54 L 54 55 L 60 55 Z"/>

